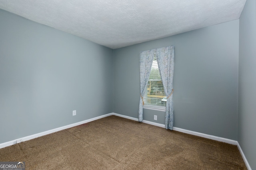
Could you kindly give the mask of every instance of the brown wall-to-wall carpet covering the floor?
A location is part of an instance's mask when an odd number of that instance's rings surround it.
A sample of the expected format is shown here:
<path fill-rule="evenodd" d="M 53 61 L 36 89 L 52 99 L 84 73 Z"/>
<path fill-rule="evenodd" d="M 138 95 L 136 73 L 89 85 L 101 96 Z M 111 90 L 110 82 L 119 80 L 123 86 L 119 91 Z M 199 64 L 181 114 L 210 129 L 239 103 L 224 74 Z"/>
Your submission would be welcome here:
<path fill-rule="evenodd" d="M 109 116 L 0 149 L 26 170 L 246 170 L 235 145 Z"/>

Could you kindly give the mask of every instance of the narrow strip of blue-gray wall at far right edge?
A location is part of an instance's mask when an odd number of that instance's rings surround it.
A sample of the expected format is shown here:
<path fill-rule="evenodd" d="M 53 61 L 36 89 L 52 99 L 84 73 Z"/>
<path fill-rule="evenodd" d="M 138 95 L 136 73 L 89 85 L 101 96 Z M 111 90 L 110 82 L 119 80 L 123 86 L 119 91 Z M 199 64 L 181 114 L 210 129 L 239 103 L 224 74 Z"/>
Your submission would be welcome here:
<path fill-rule="evenodd" d="M 256 1 L 247 0 L 239 28 L 238 143 L 256 170 Z"/>

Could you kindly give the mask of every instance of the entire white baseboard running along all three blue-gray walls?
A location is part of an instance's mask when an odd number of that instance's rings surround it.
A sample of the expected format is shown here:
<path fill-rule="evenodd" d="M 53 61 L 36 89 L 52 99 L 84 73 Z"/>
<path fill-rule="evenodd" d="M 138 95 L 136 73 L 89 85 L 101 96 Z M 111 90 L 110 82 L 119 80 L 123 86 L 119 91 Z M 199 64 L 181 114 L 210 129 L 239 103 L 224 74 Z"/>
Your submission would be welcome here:
<path fill-rule="evenodd" d="M 33 135 L 30 135 L 30 136 L 26 136 L 26 137 L 23 137 L 23 138 L 19 138 L 19 139 L 16 139 L 16 140 L 5 142 L 5 143 L 0 144 L 0 148 L 11 146 L 11 145 L 14 145 L 14 144 L 17 144 L 17 143 L 20 143 L 20 142 L 24 142 L 26 140 L 38 138 L 40 136 L 44 136 L 44 135 L 47 135 L 47 134 L 58 132 L 60 130 L 64 130 L 64 129 L 67 129 L 67 128 L 72 128 L 74 126 L 78 126 L 78 125 L 81 125 L 81 124 L 92 122 L 94 120 L 105 118 L 105 117 L 111 116 L 111 115 L 115 115 L 115 116 L 119 116 L 119 117 L 122 117 L 122 118 L 138 121 L 138 118 L 133 118 L 133 117 L 130 117 L 130 116 L 125 116 L 125 115 L 117 114 L 117 113 L 109 113 L 109 114 L 104 114 L 102 116 L 98 116 L 98 117 L 91 118 L 91 119 L 88 119 L 88 120 L 84 120 L 84 121 L 81 121 L 81 122 L 77 122 L 77 123 L 74 123 L 74 124 L 69 124 L 69 125 L 66 125 L 66 126 L 62 126 L 60 128 L 55 128 L 55 129 L 52 129 L 52 130 L 47 130 L 45 132 L 41 132 L 41 133 L 38 133 L 38 134 L 33 134 Z M 151 125 L 154 125 L 154 126 L 159 126 L 161 128 L 165 128 L 164 124 L 159 124 L 159 123 L 156 123 L 156 122 L 150 122 L 150 121 L 147 121 L 147 120 L 142 120 L 142 122 L 146 123 L 146 124 L 151 124 Z M 176 128 L 176 127 L 173 127 L 173 130 L 178 131 L 178 132 L 183 132 L 183 133 L 186 133 L 186 134 L 192 134 L 192 135 L 195 135 L 195 136 L 200 136 L 200 137 L 203 137 L 203 138 L 217 140 L 217 141 L 220 141 L 220 142 L 225 142 L 225 143 L 228 143 L 228 144 L 233 144 L 233 145 L 238 146 L 238 149 L 239 149 L 239 151 L 240 151 L 240 153 L 242 155 L 242 158 L 244 159 L 244 162 L 245 162 L 245 164 L 247 166 L 247 169 L 248 170 L 252 170 L 250 168 L 250 165 L 249 165 L 249 163 L 248 163 L 248 161 L 247 161 L 243 151 L 242 151 L 242 148 L 240 147 L 239 143 L 236 140 L 230 140 L 230 139 L 221 138 L 221 137 L 218 137 L 218 136 L 212 136 L 212 135 L 203 134 L 203 133 L 199 133 L 199 132 L 194 132 L 194 131 L 191 131 L 191 130 L 185 130 L 185 129 L 182 129 L 182 128 Z"/>

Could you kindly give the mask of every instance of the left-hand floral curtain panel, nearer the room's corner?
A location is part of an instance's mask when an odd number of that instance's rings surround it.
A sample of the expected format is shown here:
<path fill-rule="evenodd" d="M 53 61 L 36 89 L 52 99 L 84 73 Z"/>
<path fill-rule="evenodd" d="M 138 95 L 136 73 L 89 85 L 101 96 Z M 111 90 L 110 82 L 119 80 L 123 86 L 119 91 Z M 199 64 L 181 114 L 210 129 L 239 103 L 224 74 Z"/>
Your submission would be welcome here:
<path fill-rule="evenodd" d="M 143 96 L 147 91 L 148 79 L 153 62 L 154 50 L 140 52 L 140 104 L 139 104 L 139 122 L 143 120 Z"/>

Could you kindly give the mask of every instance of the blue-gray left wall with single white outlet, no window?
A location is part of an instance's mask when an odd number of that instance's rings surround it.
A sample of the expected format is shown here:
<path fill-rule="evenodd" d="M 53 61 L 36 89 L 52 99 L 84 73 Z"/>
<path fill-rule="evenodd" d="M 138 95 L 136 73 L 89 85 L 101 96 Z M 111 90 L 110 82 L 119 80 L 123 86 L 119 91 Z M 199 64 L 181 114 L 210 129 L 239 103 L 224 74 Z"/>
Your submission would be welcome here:
<path fill-rule="evenodd" d="M 113 112 L 112 52 L 0 10 L 0 143 Z"/>

